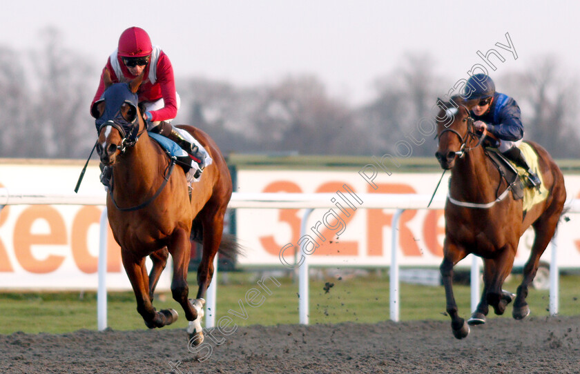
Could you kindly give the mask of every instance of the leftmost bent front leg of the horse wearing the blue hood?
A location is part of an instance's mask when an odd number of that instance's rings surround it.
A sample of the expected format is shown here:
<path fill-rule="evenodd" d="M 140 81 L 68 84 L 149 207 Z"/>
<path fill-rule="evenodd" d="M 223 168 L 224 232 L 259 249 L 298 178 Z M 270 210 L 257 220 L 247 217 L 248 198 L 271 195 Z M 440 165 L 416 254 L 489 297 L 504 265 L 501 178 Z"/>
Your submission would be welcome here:
<path fill-rule="evenodd" d="M 121 250 L 123 266 L 129 277 L 129 282 L 133 286 L 135 300 L 137 301 L 137 312 L 143 317 L 148 328 L 163 327 L 172 324 L 177 320 L 177 312 L 173 309 L 155 311 L 151 298 L 149 297 L 149 279 L 145 267 L 145 257 L 136 258 L 128 250 Z"/>

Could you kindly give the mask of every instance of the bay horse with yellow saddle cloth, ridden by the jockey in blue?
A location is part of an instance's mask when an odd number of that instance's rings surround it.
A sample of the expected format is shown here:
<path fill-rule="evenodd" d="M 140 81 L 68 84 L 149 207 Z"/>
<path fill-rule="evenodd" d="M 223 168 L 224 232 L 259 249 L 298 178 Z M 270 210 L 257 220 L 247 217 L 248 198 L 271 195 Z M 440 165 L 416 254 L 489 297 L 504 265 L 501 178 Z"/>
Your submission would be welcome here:
<path fill-rule="evenodd" d="M 441 168 L 451 170 L 440 270 L 447 313 L 457 339 L 467 337 L 469 324 L 485 323 L 490 305 L 496 315 L 502 315 L 513 300 L 512 316 L 515 319 L 528 316 L 530 308 L 525 301 L 528 287 L 536 275 L 540 256 L 554 236 L 566 201 L 561 170 L 544 148 L 527 141 L 539 156 L 539 172 L 548 197 L 524 214 L 522 200 L 503 193 L 508 183 L 481 145 L 485 133 L 479 136 L 474 132 L 468 104 L 461 97 L 452 97 L 450 102 L 443 103 L 444 108 L 440 106 L 436 117 L 438 150 L 435 155 Z M 530 226 L 534 228 L 534 244 L 523 268 L 523 280 L 513 295 L 503 291 L 502 285 L 512 271 L 519 239 Z M 470 253 L 483 259 L 484 286 L 481 301 L 467 323 L 458 314 L 452 275 L 457 262 Z"/>

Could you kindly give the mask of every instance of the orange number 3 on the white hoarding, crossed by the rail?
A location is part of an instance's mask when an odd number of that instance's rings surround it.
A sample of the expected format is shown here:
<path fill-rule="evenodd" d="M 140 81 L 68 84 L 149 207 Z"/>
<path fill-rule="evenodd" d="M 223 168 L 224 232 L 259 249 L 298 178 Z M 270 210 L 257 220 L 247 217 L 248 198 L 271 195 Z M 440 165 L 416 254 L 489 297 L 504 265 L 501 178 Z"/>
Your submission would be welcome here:
<path fill-rule="evenodd" d="M 302 193 L 302 189 L 298 184 L 292 181 L 275 181 L 266 186 L 262 191 L 264 193 Z M 260 237 L 260 244 L 267 253 L 278 257 L 280 248 L 288 243 L 297 243 L 300 239 L 300 217 L 298 217 L 298 209 L 280 209 L 278 210 L 278 221 L 284 222 L 290 227 L 291 237 L 284 243 L 276 243 L 273 235 Z"/>

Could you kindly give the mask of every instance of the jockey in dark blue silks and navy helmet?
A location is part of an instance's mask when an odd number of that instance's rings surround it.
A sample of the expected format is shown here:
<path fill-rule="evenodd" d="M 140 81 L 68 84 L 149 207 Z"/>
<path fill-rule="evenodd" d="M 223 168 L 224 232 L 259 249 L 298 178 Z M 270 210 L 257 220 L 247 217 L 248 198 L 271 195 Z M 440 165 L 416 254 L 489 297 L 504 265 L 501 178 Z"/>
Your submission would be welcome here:
<path fill-rule="evenodd" d="M 523 125 L 516 101 L 508 95 L 496 92 L 494 81 L 485 74 L 472 75 L 467 80 L 462 97 L 468 101 L 478 100 L 470 113 L 474 119 L 475 130 L 487 130 L 499 139 L 499 144 L 494 144 L 494 148 L 517 166 L 528 170 L 530 184 L 539 186 L 541 181 L 538 175 L 530 170 L 528 161 L 518 148 L 523 141 Z"/>

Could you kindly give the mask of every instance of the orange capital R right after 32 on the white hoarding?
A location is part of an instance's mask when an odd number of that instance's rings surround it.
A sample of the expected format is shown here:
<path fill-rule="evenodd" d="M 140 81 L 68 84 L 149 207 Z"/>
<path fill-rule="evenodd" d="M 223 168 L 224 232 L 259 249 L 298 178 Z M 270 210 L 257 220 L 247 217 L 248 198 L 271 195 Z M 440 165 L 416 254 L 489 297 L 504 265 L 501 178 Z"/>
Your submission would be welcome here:
<path fill-rule="evenodd" d="M 416 193 L 408 184 L 377 184 L 374 190 L 369 186 L 369 193 Z M 398 224 L 399 245 L 405 256 L 421 256 L 413 232 L 407 223 L 415 217 L 416 210 L 405 210 L 400 216 Z M 391 227 L 393 214 L 385 213 L 383 209 L 368 209 L 367 213 L 367 254 L 369 256 L 383 256 L 383 227 Z"/>

